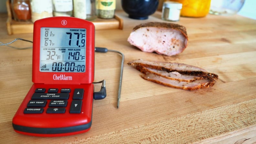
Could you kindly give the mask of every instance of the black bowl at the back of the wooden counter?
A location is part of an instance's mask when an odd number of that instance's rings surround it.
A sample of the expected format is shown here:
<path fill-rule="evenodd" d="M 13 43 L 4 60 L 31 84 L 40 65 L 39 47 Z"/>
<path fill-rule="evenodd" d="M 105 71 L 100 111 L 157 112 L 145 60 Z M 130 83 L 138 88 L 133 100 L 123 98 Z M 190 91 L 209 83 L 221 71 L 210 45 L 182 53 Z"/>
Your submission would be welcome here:
<path fill-rule="evenodd" d="M 158 0 L 121 0 L 123 10 L 133 19 L 148 19 L 155 13 Z"/>

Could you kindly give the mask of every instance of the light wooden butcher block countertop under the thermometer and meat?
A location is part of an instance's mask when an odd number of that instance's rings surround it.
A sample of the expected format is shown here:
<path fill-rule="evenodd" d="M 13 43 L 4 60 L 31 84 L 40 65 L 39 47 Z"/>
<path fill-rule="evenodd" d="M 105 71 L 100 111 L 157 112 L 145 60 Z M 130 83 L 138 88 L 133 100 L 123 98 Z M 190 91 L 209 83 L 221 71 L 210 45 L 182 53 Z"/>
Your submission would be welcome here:
<path fill-rule="evenodd" d="M 16 133 L 12 118 L 32 86 L 32 49 L 0 46 L 0 143 L 242 143 L 256 142 L 256 20 L 239 15 L 181 17 L 188 46 L 176 56 L 142 52 L 127 38 L 134 26 L 165 22 L 156 12 L 147 20 L 123 19 L 123 29 L 96 30 L 95 46 L 125 56 L 120 107 L 117 109 L 121 55 L 95 53 L 95 79 L 106 80 L 107 97 L 93 101 L 87 133 L 65 137 L 34 137 Z M 8 35 L 7 14 L 0 15 L 0 41 L 33 40 L 33 34 Z M 11 46 L 29 47 L 17 41 Z M 213 87 L 188 91 L 141 78 L 127 63 L 135 59 L 178 62 L 219 75 Z M 101 84 L 95 84 L 99 91 Z"/>

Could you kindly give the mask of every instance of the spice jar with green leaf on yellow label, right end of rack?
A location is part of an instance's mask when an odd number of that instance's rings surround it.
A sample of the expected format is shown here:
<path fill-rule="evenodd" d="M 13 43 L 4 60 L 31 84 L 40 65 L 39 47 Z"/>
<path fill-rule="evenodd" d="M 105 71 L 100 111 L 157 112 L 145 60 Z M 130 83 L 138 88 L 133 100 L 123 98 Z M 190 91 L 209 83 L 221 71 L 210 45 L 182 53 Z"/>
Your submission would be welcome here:
<path fill-rule="evenodd" d="M 97 15 L 99 18 L 109 19 L 115 15 L 115 0 L 97 0 Z"/>

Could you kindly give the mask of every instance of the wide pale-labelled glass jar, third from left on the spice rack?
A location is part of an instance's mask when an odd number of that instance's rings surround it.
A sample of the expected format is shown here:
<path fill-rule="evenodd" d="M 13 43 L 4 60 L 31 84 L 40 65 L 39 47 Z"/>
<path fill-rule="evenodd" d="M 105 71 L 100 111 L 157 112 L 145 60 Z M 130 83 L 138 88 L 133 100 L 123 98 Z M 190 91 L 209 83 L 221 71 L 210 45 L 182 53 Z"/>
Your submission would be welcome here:
<path fill-rule="evenodd" d="M 72 16 L 73 1 L 72 0 L 52 0 L 54 16 Z"/>

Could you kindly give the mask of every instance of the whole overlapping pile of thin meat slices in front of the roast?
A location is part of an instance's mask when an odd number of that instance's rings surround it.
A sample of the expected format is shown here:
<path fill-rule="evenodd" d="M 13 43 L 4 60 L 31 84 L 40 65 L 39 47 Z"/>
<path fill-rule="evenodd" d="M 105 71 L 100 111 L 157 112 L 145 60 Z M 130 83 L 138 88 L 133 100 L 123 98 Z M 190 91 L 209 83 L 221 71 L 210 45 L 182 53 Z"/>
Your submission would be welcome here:
<path fill-rule="evenodd" d="M 166 63 L 146 60 L 134 60 L 128 63 L 144 75 L 142 78 L 169 87 L 196 90 L 211 87 L 218 75 L 206 70 L 181 63 Z"/>

